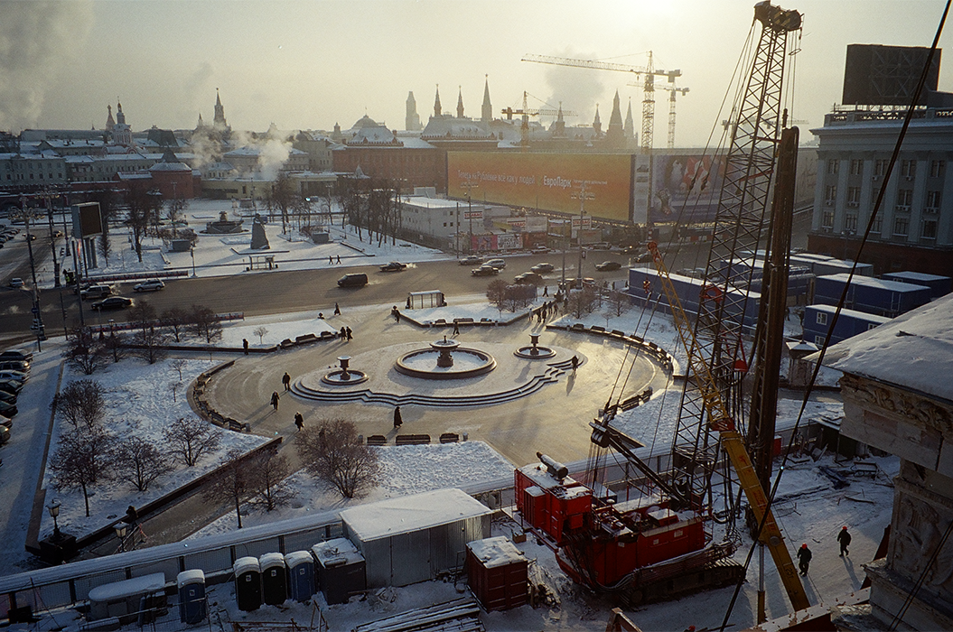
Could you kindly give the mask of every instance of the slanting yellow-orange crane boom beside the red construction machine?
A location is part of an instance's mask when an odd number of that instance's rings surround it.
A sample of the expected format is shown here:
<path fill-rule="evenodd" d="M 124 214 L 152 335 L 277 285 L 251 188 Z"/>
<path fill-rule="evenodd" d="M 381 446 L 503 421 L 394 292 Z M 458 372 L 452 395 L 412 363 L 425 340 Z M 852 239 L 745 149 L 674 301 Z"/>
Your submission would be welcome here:
<path fill-rule="evenodd" d="M 708 425 L 720 435 L 721 447 L 728 455 L 732 466 L 738 475 L 738 483 L 744 495 L 751 505 L 755 518 L 761 522 L 764 527 L 761 530 L 761 540 L 771 551 L 771 557 L 778 567 L 778 573 L 781 575 L 781 583 L 787 591 L 788 599 L 795 610 L 803 610 L 810 606 L 807 595 L 804 593 L 804 587 L 801 580 L 798 579 L 798 570 L 794 562 L 791 561 L 791 554 L 784 544 L 784 538 L 781 535 L 781 527 L 775 521 L 774 515 L 768 507 L 767 495 L 758 479 L 758 473 L 751 463 L 751 457 L 744 447 L 744 440 L 741 433 L 735 426 L 735 422 L 725 406 L 721 397 L 721 391 L 718 383 L 712 374 L 711 369 L 705 362 L 705 359 L 698 353 L 693 353 L 692 349 L 697 348 L 695 343 L 695 334 L 692 332 L 691 323 L 685 310 L 681 306 L 679 294 L 672 285 L 672 280 L 668 276 L 668 268 L 665 267 L 659 253 L 659 246 L 655 242 L 649 243 L 649 251 L 652 253 L 652 261 L 655 263 L 659 272 L 659 281 L 662 291 L 665 292 L 665 298 L 672 310 L 672 320 L 675 322 L 676 329 L 679 332 L 679 340 L 688 353 L 688 366 L 691 371 L 691 379 L 701 392 L 704 402 L 705 412 L 708 416 Z"/>

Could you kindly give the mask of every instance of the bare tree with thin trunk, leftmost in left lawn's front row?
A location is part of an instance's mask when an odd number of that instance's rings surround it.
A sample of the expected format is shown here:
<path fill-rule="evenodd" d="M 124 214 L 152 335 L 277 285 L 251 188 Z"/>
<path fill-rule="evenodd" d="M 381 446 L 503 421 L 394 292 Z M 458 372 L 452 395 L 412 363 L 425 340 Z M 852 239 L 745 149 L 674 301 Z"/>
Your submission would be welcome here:
<path fill-rule="evenodd" d="M 90 516 L 90 487 L 110 480 L 115 439 L 106 430 L 92 427 L 64 432 L 50 459 L 53 486 L 57 490 L 79 489 Z"/>

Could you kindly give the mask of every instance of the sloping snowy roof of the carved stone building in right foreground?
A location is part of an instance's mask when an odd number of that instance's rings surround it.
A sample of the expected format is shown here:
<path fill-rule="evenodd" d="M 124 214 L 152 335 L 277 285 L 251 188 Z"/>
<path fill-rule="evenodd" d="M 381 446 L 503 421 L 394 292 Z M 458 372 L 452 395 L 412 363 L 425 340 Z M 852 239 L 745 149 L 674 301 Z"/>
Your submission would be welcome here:
<path fill-rule="evenodd" d="M 831 346 L 824 365 L 953 401 L 953 294 Z"/>

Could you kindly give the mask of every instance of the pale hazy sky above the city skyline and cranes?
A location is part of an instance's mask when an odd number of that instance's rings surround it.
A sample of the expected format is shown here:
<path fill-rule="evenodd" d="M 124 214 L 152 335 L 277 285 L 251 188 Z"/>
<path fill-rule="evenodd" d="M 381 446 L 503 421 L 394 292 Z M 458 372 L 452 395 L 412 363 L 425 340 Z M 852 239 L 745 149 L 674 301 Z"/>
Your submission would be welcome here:
<path fill-rule="evenodd" d="M 704 145 L 754 14 L 753 0 L 0 0 L 0 129 L 102 128 L 122 102 L 134 130 L 193 128 L 213 118 L 220 89 L 237 129 L 350 128 L 367 113 L 404 127 L 408 90 L 426 123 L 440 87 L 444 110 L 479 117 L 484 75 L 495 113 L 544 102 L 603 126 L 622 72 L 521 62 L 527 53 L 680 69 L 676 141 Z M 941 0 L 794 0 L 804 15 L 794 118 L 801 139 L 841 99 L 848 44 L 929 46 Z M 948 30 L 947 30 L 948 31 Z M 953 35 L 944 35 L 941 46 Z M 946 47 L 949 48 L 949 47 Z M 953 49 L 950 50 L 953 54 Z M 953 63 L 953 62 L 950 62 Z M 940 88 L 953 90 L 946 64 Z M 657 92 L 656 147 L 664 147 L 667 93 Z"/>

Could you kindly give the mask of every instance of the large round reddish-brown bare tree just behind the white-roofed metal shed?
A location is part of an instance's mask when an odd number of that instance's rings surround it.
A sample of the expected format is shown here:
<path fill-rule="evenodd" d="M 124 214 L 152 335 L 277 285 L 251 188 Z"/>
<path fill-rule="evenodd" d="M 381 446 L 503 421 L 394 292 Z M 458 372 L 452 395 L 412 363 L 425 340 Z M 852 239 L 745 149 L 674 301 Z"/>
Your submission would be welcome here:
<path fill-rule="evenodd" d="M 377 453 L 360 441 L 351 422 L 323 421 L 300 431 L 295 444 L 308 472 L 343 498 L 363 496 L 376 483 Z"/>

